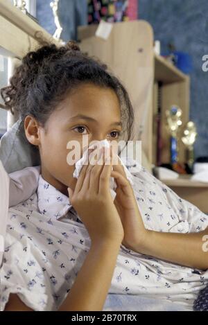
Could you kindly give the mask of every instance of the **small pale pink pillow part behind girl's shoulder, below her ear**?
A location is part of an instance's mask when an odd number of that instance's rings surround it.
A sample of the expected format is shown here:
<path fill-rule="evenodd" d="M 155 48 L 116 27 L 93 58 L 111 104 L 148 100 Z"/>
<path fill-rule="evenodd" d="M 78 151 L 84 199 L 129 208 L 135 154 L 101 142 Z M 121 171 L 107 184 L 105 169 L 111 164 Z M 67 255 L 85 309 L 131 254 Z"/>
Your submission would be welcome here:
<path fill-rule="evenodd" d="M 37 190 L 40 166 L 27 167 L 10 173 L 9 207 L 28 200 Z"/>

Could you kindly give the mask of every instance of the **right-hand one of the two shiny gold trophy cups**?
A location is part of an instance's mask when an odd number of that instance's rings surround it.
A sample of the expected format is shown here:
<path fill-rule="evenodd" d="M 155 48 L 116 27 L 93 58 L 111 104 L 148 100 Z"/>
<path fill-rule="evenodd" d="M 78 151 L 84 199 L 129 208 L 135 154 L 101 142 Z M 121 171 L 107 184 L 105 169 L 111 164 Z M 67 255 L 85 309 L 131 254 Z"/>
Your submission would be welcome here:
<path fill-rule="evenodd" d="M 194 162 L 194 152 L 193 144 L 196 141 L 197 132 L 196 125 L 192 121 L 189 121 L 184 129 L 184 136 L 182 137 L 182 142 L 187 147 L 187 165 L 191 172 L 193 171 Z"/>

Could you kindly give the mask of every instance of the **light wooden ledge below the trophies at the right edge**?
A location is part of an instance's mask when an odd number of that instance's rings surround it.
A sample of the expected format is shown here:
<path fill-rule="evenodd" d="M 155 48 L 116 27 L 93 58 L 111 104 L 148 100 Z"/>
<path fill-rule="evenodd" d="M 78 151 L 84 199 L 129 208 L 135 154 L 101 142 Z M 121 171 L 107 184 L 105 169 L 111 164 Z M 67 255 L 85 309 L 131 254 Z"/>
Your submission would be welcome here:
<path fill-rule="evenodd" d="M 181 175 L 177 179 L 160 179 L 161 182 L 171 187 L 202 187 L 208 188 L 208 183 L 196 182 L 191 180 L 189 175 Z"/>

